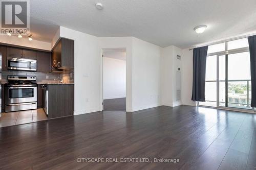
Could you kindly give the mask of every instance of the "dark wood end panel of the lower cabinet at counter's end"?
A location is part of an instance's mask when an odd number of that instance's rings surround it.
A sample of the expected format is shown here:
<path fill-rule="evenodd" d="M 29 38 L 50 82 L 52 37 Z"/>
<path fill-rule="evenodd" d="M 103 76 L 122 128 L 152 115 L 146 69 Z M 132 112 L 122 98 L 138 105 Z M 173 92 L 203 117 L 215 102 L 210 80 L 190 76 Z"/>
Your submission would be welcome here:
<path fill-rule="evenodd" d="M 73 115 L 74 113 L 74 85 L 48 85 L 48 118 Z"/>

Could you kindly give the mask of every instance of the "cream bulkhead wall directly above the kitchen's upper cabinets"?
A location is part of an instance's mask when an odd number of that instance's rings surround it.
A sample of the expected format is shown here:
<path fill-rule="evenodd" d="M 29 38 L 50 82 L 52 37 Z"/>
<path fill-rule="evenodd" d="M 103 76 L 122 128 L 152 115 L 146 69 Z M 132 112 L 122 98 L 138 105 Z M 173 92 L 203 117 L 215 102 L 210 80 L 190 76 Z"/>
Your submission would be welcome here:
<path fill-rule="evenodd" d="M 0 42 L 13 44 L 13 45 L 26 46 L 31 48 L 38 48 L 41 50 L 48 50 L 48 51 L 52 50 L 51 42 L 44 42 L 44 41 L 37 41 L 37 40 L 29 41 L 28 38 L 18 38 L 17 36 L 1 35 Z"/>

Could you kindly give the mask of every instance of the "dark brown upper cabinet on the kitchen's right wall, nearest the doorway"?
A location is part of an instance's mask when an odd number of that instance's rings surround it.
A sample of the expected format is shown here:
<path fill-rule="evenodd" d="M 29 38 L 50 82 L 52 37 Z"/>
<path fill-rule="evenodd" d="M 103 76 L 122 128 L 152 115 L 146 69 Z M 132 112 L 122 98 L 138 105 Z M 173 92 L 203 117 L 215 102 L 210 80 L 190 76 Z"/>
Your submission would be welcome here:
<path fill-rule="evenodd" d="M 52 50 L 52 68 L 74 68 L 74 40 L 61 38 Z"/>

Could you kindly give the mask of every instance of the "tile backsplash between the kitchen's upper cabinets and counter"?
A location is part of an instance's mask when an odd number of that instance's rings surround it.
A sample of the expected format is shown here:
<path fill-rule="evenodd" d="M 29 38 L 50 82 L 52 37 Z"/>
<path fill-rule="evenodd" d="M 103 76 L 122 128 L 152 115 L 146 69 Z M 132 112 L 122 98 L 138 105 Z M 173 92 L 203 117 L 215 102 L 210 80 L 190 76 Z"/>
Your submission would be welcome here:
<path fill-rule="evenodd" d="M 73 69 L 65 70 L 62 73 L 29 72 L 29 71 L 16 71 L 16 70 L 3 71 L 2 72 L 2 84 L 7 83 L 8 75 L 36 76 L 37 84 L 59 83 L 59 81 L 61 79 L 63 80 L 63 83 L 74 83 L 74 70 Z"/>

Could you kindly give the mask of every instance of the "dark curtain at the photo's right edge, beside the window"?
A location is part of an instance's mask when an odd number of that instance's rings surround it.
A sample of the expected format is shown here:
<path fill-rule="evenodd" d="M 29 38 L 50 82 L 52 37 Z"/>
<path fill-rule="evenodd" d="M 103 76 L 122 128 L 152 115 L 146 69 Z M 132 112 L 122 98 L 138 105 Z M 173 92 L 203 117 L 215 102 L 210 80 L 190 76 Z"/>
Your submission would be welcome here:
<path fill-rule="evenodd" d="M 256 35 L 248 37 L 248 42 L 251 62 L 251 107 L 256 107 Z"/>

